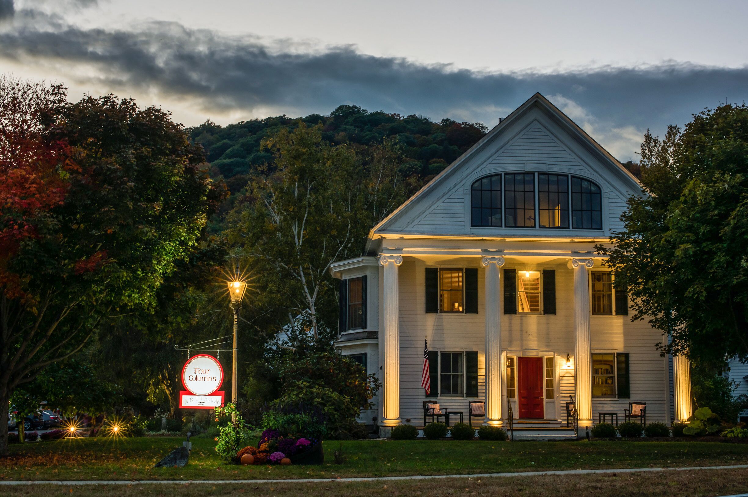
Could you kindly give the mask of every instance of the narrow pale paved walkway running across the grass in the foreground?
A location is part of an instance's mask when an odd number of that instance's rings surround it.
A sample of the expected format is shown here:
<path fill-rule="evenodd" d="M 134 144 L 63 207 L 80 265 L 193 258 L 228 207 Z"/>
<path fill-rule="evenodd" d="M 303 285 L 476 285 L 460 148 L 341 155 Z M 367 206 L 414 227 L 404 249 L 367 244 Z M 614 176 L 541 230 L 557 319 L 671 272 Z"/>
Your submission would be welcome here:
<path fill-rule="evenodd" d="M 505 478 L 512 476 L 544 475 L 604 475 L 607 473 L 638 473 L 663 471 L 693 471 L 701 469 L 748 469 L 748 464 L 736 466 L 693 466 L 687 468 L 623 468 L 623 469 L 565 469 L 562 471 L 528 471 L 511 473 L 482 473 L 480 475 L 423 475 L 423 476 L 369 476 L 362 478 L 306 478 L 286 480 L 91 480 L 91 481 L 0 481 L 0 485 L 141 485 L 141 484 L 284 484 L 320 483 L 330 481 L 403 481 L 433 478 Z M 748 495 L 748 494 L 745 494 Z"/>

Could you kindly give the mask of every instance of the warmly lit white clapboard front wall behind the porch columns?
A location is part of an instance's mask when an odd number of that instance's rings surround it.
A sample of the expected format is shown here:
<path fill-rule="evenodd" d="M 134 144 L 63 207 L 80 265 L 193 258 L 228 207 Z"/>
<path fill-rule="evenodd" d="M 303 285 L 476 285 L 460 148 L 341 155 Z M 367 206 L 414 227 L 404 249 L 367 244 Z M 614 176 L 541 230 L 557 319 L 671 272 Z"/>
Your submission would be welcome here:
<path fill-rule="evenodd" d="M 485 395 L 485 301 L 484 268 L 478 258 L 455 259 L 452 267 L 474 267 L 478 271 L 478 314 L 427 314 L 425 312 L 424 278 L 426 263 L 405 257 L 399 266 L 400 282 L 400 419 L 423 423 L 425 392 L 420 387 L 423 367 L 423 340 L 428 339 L 429 351 L 478 351 L 479 397 Z M 574 360 L 573 273 L 565 264 L 536 265 L 532 268 L 506 259 L 504 268 L 555 269 L 557 315 L 501 315 L 502 348 L 509 354 L 537 356 L 555 353 L 559 356 L 560 385 L 559 419 L 565 420 L 565 402 L 574 395 L 574 371 L 562 368 L 566 355 Z M 503 271 L 502 271 L 503 284 Z M 503 290 L 501 295 L 503 296 Z M 623 421 L 629 401 L 647 403 L 647 421 L 666 422 L 669 392 L 666 383 L 666 362 L 654 344 L 660 333 L 646 321 L 631 322 L 628 316 L 590 317 L 592 350 L 628 352 L 630 360 L 631 398 L 592 399 L 595 422 L 600 411 L 616 411 Z M 576 395 L 574 395 L 576 398 Z M 439 398 L 450 410 L 467 413 L 472 398 Z M 546 417 L 555 417 L 548 416 Z"/>

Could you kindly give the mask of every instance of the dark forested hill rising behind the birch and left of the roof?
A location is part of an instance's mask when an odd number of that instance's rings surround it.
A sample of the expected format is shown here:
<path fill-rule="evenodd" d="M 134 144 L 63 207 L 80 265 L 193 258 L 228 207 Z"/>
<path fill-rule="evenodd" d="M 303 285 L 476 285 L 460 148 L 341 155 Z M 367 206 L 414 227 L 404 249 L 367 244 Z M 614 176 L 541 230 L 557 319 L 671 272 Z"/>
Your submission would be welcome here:
<path fill-rule="evenodd" d="M 218 126 L 210 121 L 188 130 L 196 143 L 202 143 L 212 176 L 223 176 L 231 191 L 247 183 L 248 174 L 272 155 L 260 149 L 260 142 L 281 128 L 295 128 L 301 120 L 310 126 L 322 123 L 322 138 L 331 143 L 369 146 L 382 138 L 397 138 L 405 155 L 404 176 L 426 178 L 440 172 L 473 146 L 488 128 L 481 123 L 457 123 L 444 119 L 434 123 L 426 117 L 369 112 L 356 105 L 340 105 L 327 116 L 267 117 Z"/>

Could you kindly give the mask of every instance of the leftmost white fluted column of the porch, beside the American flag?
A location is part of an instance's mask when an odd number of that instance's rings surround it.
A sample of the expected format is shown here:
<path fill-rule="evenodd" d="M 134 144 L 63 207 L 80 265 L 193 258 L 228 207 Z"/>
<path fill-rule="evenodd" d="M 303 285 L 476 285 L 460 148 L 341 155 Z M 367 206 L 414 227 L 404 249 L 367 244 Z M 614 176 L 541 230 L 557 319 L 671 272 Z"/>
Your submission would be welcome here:
<path fill-rule="evenodd" d="M 399 282 L 397 266 L 402 256 L 379 256 L 382 266 L 382 426 L 400 424 L 400 336 L 399 336 Z"/>

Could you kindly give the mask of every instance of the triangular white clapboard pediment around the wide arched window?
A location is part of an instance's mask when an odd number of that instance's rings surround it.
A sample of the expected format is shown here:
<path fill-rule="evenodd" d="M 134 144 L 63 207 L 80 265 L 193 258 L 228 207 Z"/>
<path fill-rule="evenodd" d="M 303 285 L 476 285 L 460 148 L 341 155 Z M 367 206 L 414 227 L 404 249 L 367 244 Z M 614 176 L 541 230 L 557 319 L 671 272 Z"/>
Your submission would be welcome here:
<path fill-rule="evenodd" d="M 642 194 L 637 179 L 619 161 L 536 93 L 375 226 L 370 238 L 398 233 L 475 235 L 476 230 L 470 226 L 470 185 L 483 176 L 524 171 L 592 180 L 604 191 L 608 217 L 614 215 L 616 220 L 628 197 Z M 608 232 L 618 227 L 614 226 L 616 220 L 607 223 Z M 510 229 L 495 230 L 511 234 Z"/>

